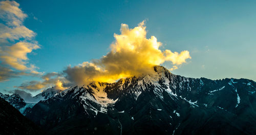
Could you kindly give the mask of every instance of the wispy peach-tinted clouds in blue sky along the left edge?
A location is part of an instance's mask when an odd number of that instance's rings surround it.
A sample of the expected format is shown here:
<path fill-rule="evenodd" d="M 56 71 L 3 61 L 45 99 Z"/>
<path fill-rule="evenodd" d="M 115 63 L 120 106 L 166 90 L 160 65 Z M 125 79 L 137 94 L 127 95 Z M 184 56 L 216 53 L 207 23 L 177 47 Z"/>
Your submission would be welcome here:
<path fill-rule="evenodd" d="M 39 74 L 35 65 L 28 62 L 28 53 L 39 49 L 36 35 L 32 30 L 23 25 L 28 15 L 14 1 L 0 2 L 0 60 L 3 71 L 0 81 L 20 75 Z M 13 74 L 14 73 L 14 74 Z"/>

